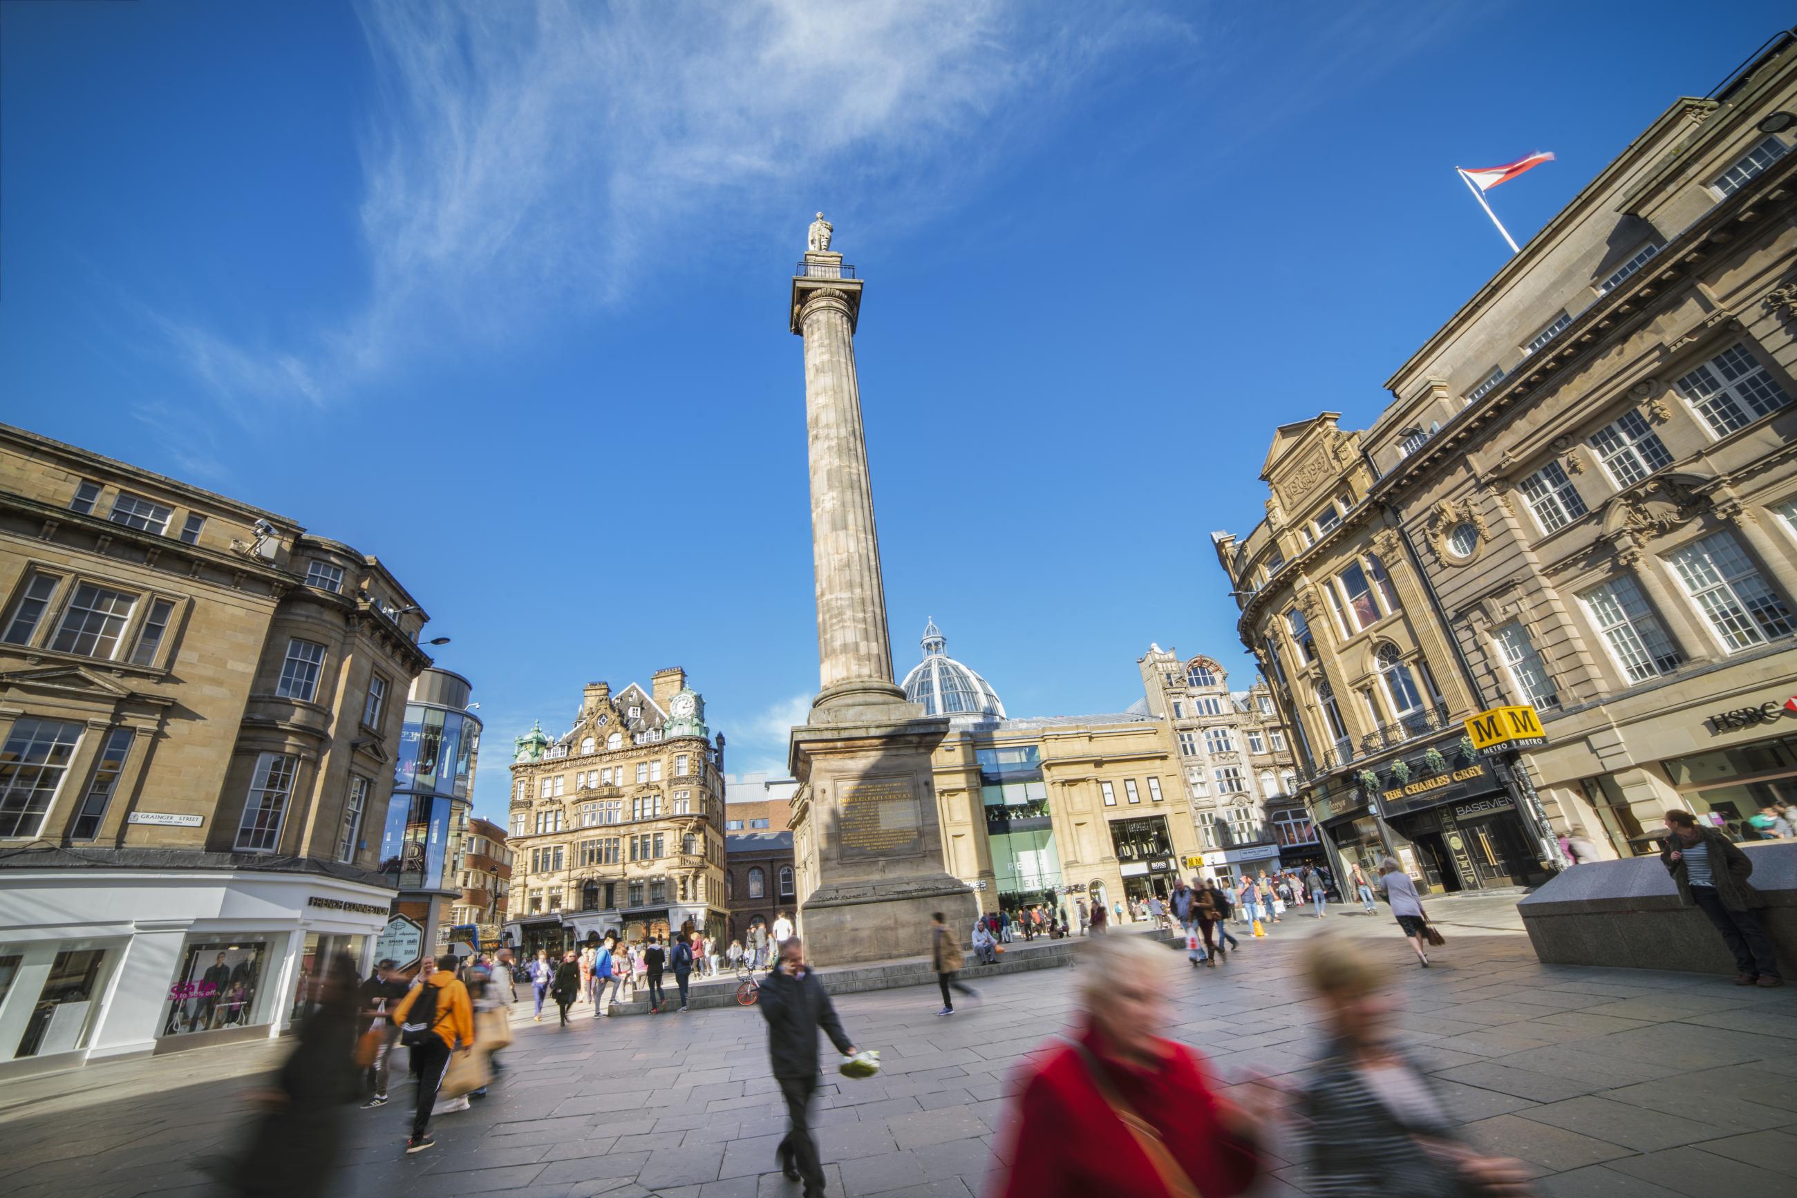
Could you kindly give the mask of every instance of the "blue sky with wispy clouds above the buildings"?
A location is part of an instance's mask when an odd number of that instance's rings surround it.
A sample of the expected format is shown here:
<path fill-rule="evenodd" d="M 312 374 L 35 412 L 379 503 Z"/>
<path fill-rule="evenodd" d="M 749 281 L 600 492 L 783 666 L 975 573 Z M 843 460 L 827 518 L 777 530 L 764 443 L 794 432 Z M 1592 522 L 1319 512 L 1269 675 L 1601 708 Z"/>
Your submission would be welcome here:
<path fill-rule="evenodd" d="M 818 686 L 823 208 L 900 670 L 1014 715 L 1150 641 L 1247 683 L 1217 528 L 1786 5 L 0 4 L 0 411 L 379 555 L 510 738 L 686 666 L 731 771 Z M 1700 23 L 1698 23 L 1700 22 Z"/>

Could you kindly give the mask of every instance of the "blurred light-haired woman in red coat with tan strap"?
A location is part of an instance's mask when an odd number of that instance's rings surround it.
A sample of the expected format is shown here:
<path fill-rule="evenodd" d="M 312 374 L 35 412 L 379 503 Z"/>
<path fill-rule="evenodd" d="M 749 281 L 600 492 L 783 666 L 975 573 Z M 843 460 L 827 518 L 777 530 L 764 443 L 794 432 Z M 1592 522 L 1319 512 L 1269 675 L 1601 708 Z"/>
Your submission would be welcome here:
<path fill-rule="evenodd" d="M 1082 954 L 1085 1024 L 1017 1096 L 994 1198 L 1231 1198 L 1254 1182 L 1256 1119 L 1211 1088 L 1197 1053 L 1155 1035 L 1172 959 L 1136 936 Z"/>

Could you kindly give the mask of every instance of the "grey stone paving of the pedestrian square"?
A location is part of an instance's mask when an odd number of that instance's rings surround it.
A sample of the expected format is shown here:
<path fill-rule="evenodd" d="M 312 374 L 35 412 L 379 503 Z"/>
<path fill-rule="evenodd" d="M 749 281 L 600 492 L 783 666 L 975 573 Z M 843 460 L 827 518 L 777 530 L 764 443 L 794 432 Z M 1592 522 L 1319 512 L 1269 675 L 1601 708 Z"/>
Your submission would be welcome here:
<path fill-rule="evenodd" d="M 1364 936 L 1402 984 L 1405 1036 L 1441 1081 L 1463 1133 L 1522 1158 L 1547 1198 L 1797 1193 L 1797 988 L 1747 990 L 1695 973 L 1542 966 L 1511 900 L 1438 900 L 1448 934 L 1420 970 L 1389 918 L 1330 918 Z M 1301 1081 L 1315 1011 L 1294 977 L 1315 930 L 1288 916 L 1227 966 L 1168 952 L 1170 1035 L 1224 1079 Z M 879 1047 L 868 1081 L 830 1074 L 818 1139 L 834 1194 L 965 1198 L 994 1155 L 1015 1070 L 1073 1022 L 1071 972 L 994 979 L 981 1004 L 936 1018 L 934 988 L 837 999 Z M 589 1011 L 589 1009 L 588 1009 Z M 280 1045 L 232 1045 L 0 1088 L 0 1176 L 16 1198 L 205 1193 L 198 1162 L 234 1142 L 241 1096 Z M 528 1198 L 792 1194 L 775 1167 L 783 1132 L 760 1017 L 722 1009 L 593 1022 L 528 1020 L 492 1096 L 433 1123 L 404 1157 L 408 1101 L 352 1112 L 334 1194 Z M 1305 1193 L 1278 1153 L 1260 1194 Z"/>

